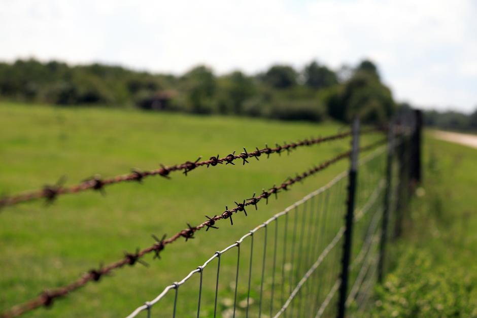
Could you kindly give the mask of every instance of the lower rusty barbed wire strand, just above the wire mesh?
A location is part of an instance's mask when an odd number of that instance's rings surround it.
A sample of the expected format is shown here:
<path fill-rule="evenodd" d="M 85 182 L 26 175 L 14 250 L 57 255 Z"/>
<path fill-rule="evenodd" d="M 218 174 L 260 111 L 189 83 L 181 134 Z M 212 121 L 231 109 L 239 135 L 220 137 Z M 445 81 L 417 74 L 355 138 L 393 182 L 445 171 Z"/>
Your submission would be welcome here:
<path fill-rule="evenodd" d="M 381 146 L 385 144 L 386 142 L 387 142 L 387 138 L 384 138 L 379 140 L 378 142 L 361 147 L 359 151 L 360 152 L 368 151 L 378 146 Z M 114 262 L 112 264 L 109 264 L 108 266 L 100 266 L 98 269 L 90 269 L 83 276 L 81 276 L 80 278 L 72 282 L 71 284 L 61 288 L 54 289 L 54 290 L 46 290 L 42 292 L 38 297 L 33 298 L 22 304 L 16 305 L 13 308 L 11 308 L 9 311 L 6 311 L 0 314 L 0 317 L 3 317 L 3 318 L 17 317 L 27 311 L 36 309 L 41 306 L 46 306 L 46 307 L 51 306 L 55 299 L 66 296 L 70 292 L 85 286 L 90 281 L 99 281 L 101 277 L 111 273 L 115 269 L 122 268 L 126 265 L 133 266 L 137 263 L 140 263 L 142 265 L 148 266 L 148 264 L 141 259 L 146 254 L 154 253 L 153 259 L 155 258 L 160 259 L 160 253 L 165 249 L 165 246 L 175 242 L 181 237 L 185 238 L 185 241 L 188 241 L 189 239 L 193 239 L 194 233 L 199 231 L 202 228 L 206 228 L 206 231 L 208 231 L 211 228 L 217 229 L 218 227 L 215 225 L 217 221 L 219 220 L 230 219 L 230 224 L 233 225 L 232 215 L 241 211 L 243 211 L 244 214 L 247 215 L 245 211 L 246 206 L 253 205 L 255 206 L 255 209 L 257 209 L 257 203 L 260 202 L 262 199 L 265 199 L 266 203 L 268 203 L 268 198 L 271 195 L 275 195 L 275 197 L 277 197 L 278 193 L 280 193 L 281 191 L 288 191 L 289 190 L 288 188 L 292 186 L 293 184 L 297 182 L 301 182 L 303 179 L 308 178 L 311 175 L 314 175 L 315 173 L 327 168 L 328 166 L 338 162 L 339 160 L 348 158 L 350 154 L 351 154 L 351 151 L 338 154 L 337 156 L 321 163 L 320 165 L 314 166 L 310 168 L 309 170 L 302 172 L 301 174 L 296 174 L 294 178 L 291 178 L 291 177 L 287 178 L 279 186 L 274 185 L 268 190 L 263 189 L 260 195 L 256 196 L 256 193 L 254 193 L 251 198 L 244 199 L 242 203 L 238 203 L 240 201 L 235 202 L 236 207 L 229 209 L 228 206 L 226 206 L 225 211 L 223 211 L 220 215 L 216 215 L 214 217 L 205 216 L 207 220 L 200 223 L 197 226 L 191 226 L 190 224 L 187 224 L 186 229 L 183 229 L 177 232 L 176 234 L 174 234 L 173 236 L 167 239 L 165 238 L 166 235 L 162 236 L 161 239 L 159 239 L 155 235 L 152 235 L 155 242 L 148 248 L 143 250 L 137 249 L 135 253 L 125 252 L 124 257 L 121 260 Z"/>

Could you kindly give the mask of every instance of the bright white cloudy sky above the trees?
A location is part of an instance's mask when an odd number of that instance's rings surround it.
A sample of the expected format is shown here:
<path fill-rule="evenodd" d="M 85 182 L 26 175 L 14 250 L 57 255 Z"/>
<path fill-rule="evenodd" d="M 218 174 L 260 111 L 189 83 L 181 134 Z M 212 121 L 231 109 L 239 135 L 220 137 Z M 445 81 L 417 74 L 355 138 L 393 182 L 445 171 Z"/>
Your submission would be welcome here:
<path fill-rule="evenodd" d="M 473 0 L 0 0 L 0 60 L 248 74 L 369 58 L 398 101 L 477 108 Z"/>

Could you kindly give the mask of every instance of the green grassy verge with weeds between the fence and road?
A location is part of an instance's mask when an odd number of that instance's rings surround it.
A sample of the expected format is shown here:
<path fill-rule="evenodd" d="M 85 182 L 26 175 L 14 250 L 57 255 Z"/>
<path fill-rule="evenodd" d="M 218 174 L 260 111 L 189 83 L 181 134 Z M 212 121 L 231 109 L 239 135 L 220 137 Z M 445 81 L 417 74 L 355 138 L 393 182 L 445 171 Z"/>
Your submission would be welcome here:
<path fill-rule="evenodd" d="M 477 150 L 424 145 L 424 184 L 366 317 L 477 317 Z"/>

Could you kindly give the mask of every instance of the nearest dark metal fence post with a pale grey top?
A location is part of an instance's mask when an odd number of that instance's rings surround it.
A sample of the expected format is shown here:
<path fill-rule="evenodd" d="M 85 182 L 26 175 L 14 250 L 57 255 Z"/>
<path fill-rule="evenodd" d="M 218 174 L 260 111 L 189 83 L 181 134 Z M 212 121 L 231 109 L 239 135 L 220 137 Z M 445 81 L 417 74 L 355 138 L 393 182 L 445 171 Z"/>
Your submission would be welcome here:
<path fill-rule="evenodd" d="M 358 169 L 358 155 L 359 155 L 359 119 L 353 121 L 353 140 L 351 148 L 351 167 L 349 173 L 348 183 L 348 200 L 347 211 L 345 217 L 345 240 L 343 243 L 343 257 L 342 257 L 342 272 L 341 284 L 339 286 L 339 300 L 338 300 L 338 318 L 345 316 L 345 303 L 348 293 L 348 276 L 351 257 L 351 244 L 353 235 L 353 219 L 356 193 L 356 178 Z"/>

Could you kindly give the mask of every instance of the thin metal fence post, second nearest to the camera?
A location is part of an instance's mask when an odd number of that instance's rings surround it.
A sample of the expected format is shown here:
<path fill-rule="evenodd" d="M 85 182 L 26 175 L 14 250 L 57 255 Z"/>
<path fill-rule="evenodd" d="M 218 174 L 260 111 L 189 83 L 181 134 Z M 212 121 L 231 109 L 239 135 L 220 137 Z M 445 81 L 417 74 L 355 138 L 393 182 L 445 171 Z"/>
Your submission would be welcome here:
<path fill-rule="evenodd" d="M 394 125 L 391 122 L 388 132 L 388 156 L 386 159 L 386 189 L 384 193 L 383 220 L 381 224 L 381 242 L 379 249 L 378 281 L 383 282 L 386 242 L 388 235 L 389 209 L 392 189 L 392 164 L 394 153 Z"/>

